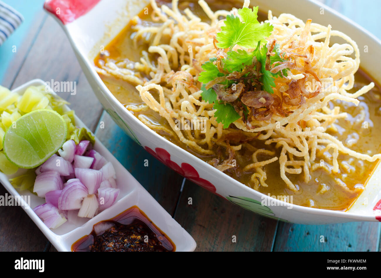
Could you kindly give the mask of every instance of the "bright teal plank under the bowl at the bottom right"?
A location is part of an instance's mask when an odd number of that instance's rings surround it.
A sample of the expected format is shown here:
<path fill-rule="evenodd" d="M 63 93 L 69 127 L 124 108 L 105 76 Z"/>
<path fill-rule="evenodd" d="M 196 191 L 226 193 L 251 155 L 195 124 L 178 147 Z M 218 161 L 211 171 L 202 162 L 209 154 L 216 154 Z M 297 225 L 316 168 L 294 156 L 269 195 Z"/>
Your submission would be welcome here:
<path fill-rule="evenodd" d="M 379 228 L 375 222 L 332 225 L 280 222 L 274 251 L 378 251 Z"/>

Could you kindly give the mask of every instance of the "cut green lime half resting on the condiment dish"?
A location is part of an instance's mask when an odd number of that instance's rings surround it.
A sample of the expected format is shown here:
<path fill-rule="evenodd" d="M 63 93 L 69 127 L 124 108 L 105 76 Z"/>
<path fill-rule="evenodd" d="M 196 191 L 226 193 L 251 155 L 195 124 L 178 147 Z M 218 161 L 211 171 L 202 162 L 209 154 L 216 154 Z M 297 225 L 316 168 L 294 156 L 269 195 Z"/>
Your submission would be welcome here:
<path fill-rule="evenodd" d="M 4 153 L 18 167 L 34 168 L 62 147 L 66 135 L 61 115 L 53 110 L 35 110 L 18 118 L 5 132 Z"/>

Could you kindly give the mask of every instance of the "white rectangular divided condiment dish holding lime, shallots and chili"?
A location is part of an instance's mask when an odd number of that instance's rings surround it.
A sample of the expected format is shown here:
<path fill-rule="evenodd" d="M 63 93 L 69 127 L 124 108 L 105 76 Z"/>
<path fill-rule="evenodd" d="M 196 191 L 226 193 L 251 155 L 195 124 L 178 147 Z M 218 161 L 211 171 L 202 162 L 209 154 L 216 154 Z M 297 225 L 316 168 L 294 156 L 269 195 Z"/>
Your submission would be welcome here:
<path fill-rule="evenodd" d="M 21 95 L 25 92 L 27 87 L 39 85 L 45 85 L 45 82 L 40 79 L 35 79 L 21 85 L 12 92 Z M 65 111 L 70 111 L 69 107 L 65 106 Z M 78 127 L 85 127 L 89 130 L 76 116 L 75 125 Z M 122 164 L 119 163 L 119 161 L 97 138 L 95 138 L 94 150 L 99 152 L 114 166 L 117 175 L 117 187 L 120 189 L 120 193 L 115 204 L 91 219 L 83 218 L 76 223 L 69 223 L 66 221 L 57 229 L 51 230 L 46 227 L 43 221 L 32 210 L 37 205 L 44 204 L 45 199 L 40 198 L 27 190 L 18 192 L 9 182 L 9 178 L 20 175 L 24 169 L 19 169 L 19 171 L 12 176 L 0 172 L 0 180 L 12 196 L 30 196 L 30 204 L 25 204 L 22 208 L 58 251 L 71 251 L 72 244 L 81 237 L 90 234 L 94 224 L 114 218 L 119 213 L 124 212 L 134 205 L 138 206 L 139 209 L 142 210 L 147 217 L 172 240 L 176 245 L 176 251 L 194 251 L 196 242 L 191 235 L 189 235 L 187 231 L 185 231 L 180 224 L 177 223 L 165 209 L 163 209 L 154 197 L 141 186 L 141 184 L 122 166 Z"/>

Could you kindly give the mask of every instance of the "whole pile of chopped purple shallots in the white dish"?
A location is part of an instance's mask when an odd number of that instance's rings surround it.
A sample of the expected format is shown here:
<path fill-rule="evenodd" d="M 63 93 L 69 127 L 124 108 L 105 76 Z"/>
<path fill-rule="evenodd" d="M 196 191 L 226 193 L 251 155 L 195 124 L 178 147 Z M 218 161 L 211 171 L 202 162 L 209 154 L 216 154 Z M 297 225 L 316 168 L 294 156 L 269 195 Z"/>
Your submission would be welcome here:
<path fill-rule="evenodd" d="M 116 201 L 120 190 L 114 166 L 91 148 L 87 140 L 78 145 L 73 140 L 66 141 L 58 151 L 61 156 L 52 155 L 35 170 L 34 192 L 46 199 L 46 204 L 35 211 L 46 226 L 55 228 L 67 219 L 70 223 L 82 223 L 83 218 L 94 217 L 98 210 L 105 210 Z M 82 156 L 85 152 L 86 156 Z M 112 226 L 105 223 L 94 229 L 100 234 Z"/>

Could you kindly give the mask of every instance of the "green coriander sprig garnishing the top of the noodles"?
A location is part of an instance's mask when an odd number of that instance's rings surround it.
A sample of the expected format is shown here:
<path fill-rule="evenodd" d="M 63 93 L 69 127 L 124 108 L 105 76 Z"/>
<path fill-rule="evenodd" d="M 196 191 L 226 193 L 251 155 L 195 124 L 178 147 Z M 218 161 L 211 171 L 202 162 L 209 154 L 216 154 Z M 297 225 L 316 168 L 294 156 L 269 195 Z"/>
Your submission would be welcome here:
<path fill-rule="evenodd" d="M 245 118 L 248 114 L 247 107 L 240 102 L 239 98 L 234 102 L 226 102 L 221 100 L 215 90 L 212 88 L 206 89 L 205 85 L 213 81 L 217 77 L 226 76 L 226 81 L 219 84 L 226 85 L 229 88 L 234 80 L 245 82 L 247 87 L 252 87 L 253 83 L 261 84 L 259 90 L 265 90 L 269 93 L 274 93 L 272 87 L 275 87 L 274 77 L 278 74 L 286 75 L 286 70 L 282 73 L 271 73 L 266 70 L 266 59 L 268 49 L 266 47 L 267 40 L 271 35 L 273 26 L 268 22 L 260 24 L 257 17 L 258 6 L 253 9 L 242 8 L 238 10 L 238 16 L 228 15 L 224 21 L 224 26 L 221 27 L 221 32 L 216 35 L 218 43 L 216 46 L 221 49 L 229 49 L 226 58 L 222 58 L 220 64 L 223 65 L 223 72 L 219 70 L 214 63 L 217 58 L 211 58 L 203 63 L 203 71 L 200 73 L 199 82 L 203 83 L 201 90 L 202 99 L 209 103 L 214 103 L 213 109 L 217 122 L 223 123 L 224 128 L 240 117 Z M 233 50 L 235 46 L 249 49 Z M 250 51 L 250 49 L 254 49 Z M 278 54 L 279 46 L 275 44 L 273 51 L 275 55 L 270 56 L 270 64 L 274 62 L 283 62 L 283 59 Z M 230 74 L 229 74 L 230 73 Z M 232 75 L 242 73 L 240 78 L 234 79 Z M 238 74 L 239 75 L 239 74 Z M 234 90 L 234 89 L 233 89 Z"/>

